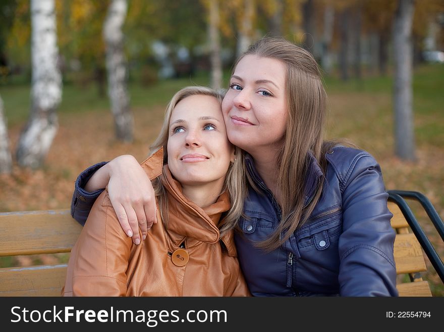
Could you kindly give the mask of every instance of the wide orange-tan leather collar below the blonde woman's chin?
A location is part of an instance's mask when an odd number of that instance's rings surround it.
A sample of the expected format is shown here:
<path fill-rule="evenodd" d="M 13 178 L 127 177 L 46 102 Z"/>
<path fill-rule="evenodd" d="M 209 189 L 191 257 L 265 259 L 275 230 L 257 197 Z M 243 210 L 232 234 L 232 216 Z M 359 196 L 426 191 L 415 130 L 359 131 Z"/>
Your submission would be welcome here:
<path fill-rule="evenodd" d="M 222 193 L 214 204 L 200 208 L 188 200 L 182 193 L 181 184 L 173 178 L 168 164 L 163 163 L 163 148 L 146 159 L 141 165 L 146 174 L 152 180 L 160 176 L 163 187 L 168 197 L 169 223 L 168 230 L 171 240 L 179 246 L 186 238 L 215 244 L 223 241 L 228 254 L 236 256 L 233 232 L 228 232 L 220 238 L 218 223 L 223 212 L 230 209 L 230 196 Z"/>

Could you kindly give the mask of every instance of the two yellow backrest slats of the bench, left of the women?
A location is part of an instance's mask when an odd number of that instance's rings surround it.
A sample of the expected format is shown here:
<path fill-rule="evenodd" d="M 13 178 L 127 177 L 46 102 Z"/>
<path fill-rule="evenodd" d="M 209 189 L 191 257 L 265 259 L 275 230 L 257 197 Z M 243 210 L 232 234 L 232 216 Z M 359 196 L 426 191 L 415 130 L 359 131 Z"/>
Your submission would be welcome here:
<path fill-rule="evenodd" d="M 82 226 L 69 210 L 0 213 L 0 256 L 68 253 Z M 60 296 L 67 264 L 0 268 L 0 296 Z"/>

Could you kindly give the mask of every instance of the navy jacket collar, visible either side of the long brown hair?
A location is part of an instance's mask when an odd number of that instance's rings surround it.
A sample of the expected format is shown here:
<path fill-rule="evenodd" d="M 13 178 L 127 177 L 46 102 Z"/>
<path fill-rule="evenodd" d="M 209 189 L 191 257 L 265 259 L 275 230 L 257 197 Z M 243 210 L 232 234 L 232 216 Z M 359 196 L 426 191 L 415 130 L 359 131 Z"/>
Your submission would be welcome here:
<path fill-rule="evenodd" d="M 247 171 L 250 174 L 252 180 L 255 182 L 255 184 L 258 184 L 259 187 L 266 186 L 262 178 L 260 177 L 259 173 L 257 172 L 256 168 L 254 167 L 253 157 L 248 153 L 245 153 L 245 163 L 247 165 Z M 321 181 L 322 177 L 324 176 L 319 166 L 319 163 L 317 162 L 316 158 L 314 157 L 311 151 L 308 151 L 307 153 L 307 163 L 308 163 L 308 168 L 307 168 L 308 172 L 305 177 L 304 205 L 306 205 L 311 199 L 311 197 L 316 194 L 319 181 Z"/>

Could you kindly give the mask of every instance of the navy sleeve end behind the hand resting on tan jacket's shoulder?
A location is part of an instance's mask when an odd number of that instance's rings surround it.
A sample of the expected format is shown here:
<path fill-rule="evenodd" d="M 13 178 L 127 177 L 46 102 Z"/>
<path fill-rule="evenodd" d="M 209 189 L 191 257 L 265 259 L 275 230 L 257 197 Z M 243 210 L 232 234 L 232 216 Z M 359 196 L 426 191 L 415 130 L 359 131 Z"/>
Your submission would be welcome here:
<path fill-rule="evenodd" d="M 106 162 L 95 164 L 86 170 L 84 170 L 76 179 L 74 186 L 74 194 L 71 200 L 71 215 L 82 226 L 85 224 L 86 218 L 88 218 L 89 211 L 91 210 L 95 200 L 103 192 L 104 189 L 99 189 L 93 193 L 86 192 L 83 188 L 91 176 L 100 167 L 105 165 Z"/>

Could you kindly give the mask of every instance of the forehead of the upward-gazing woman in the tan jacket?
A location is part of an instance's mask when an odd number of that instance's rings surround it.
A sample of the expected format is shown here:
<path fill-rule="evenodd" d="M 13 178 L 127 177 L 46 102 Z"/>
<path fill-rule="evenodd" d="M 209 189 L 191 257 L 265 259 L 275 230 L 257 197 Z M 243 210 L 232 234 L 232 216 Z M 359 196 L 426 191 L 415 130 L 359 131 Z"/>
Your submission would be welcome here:
<path fill-rule="evenodd" d="M 215 97 L 204 94 L 188 96 L 177 103 L 171 114 L 171 120 L 187 119 L 193 117 L 222 117 L 220 104 Z"/>

